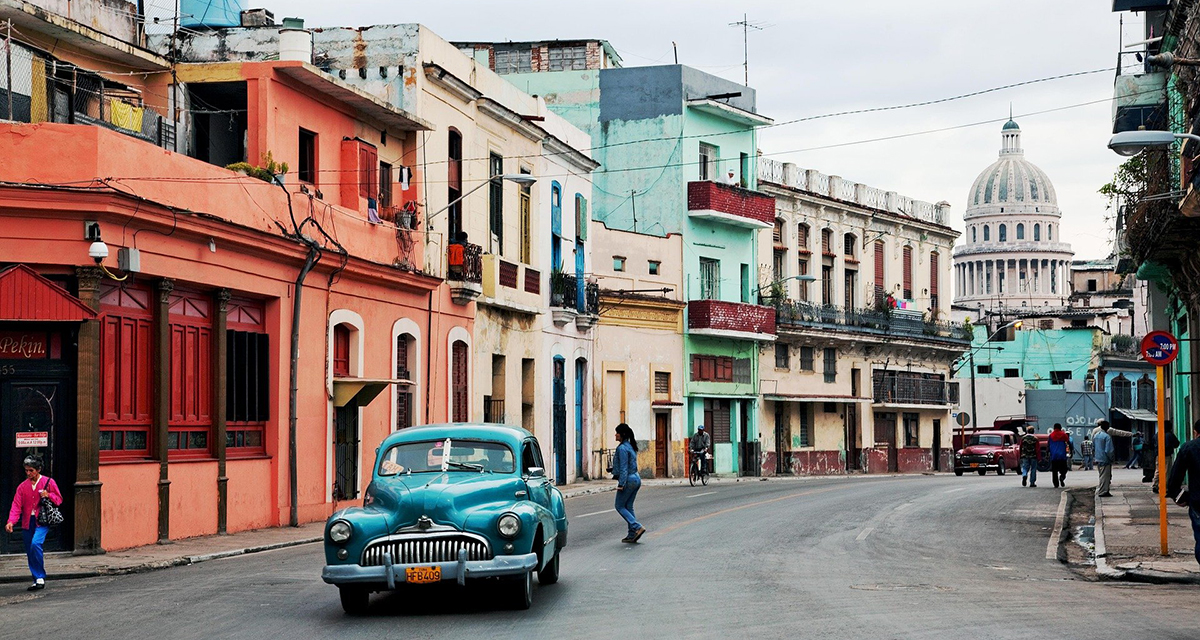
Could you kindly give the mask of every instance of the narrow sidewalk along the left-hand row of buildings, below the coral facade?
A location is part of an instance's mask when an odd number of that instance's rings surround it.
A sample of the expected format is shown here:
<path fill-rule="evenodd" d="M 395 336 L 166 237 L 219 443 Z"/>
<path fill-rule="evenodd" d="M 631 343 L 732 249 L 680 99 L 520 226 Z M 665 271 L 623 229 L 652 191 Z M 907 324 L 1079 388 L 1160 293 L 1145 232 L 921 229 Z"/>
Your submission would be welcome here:
<path fill-rule="evenodd" d="M 745 480 L 743 478 L 743 480 Z M 712 479 L 710 483 L 728 483 L 732 479 Z M 686 479 L 647 479 L 646 485 L 686 484 Z M 571 498 L 602 494 L 617 489 L 612 480 L 589 480 L 560 488 L 563 496 Z M 244 531 L 229 536 L 204 536 L 176 540 L 170 544 L 151 544 L 100 556 L 74 556 L 70 552 L 46 555 L 47 580 L 71 580 L 97 575 L 120 575 L 193 564 L 242 554 L 270 551 L 299 544 L 320 542 L 325 522 L 308 522 L 299 527 L 274 527 Z M 0 556 L 0 584 L 28 582 L 29 568 L 24 554 Z"/>

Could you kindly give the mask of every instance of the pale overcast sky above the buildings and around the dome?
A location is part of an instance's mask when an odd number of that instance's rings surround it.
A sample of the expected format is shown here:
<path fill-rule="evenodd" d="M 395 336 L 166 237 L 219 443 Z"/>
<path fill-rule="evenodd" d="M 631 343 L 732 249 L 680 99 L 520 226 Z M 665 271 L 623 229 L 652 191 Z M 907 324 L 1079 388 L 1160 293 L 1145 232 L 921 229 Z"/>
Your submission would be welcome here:
<path fill-rule="evenodd" d="M 739 82 L 742 30 L 728 23 L 746 13 L 766 26 L 750 34 L 750 84 L 758 110 L 776 121 L 1106 70 L 1122 37 L 1122 14 L 1111 12 L 1111 0 L 265 4 L 276 18 L 304 17 L 312 26 L 419 22 L 446 40 L 605 38 L 626 66 L 671 64 L 674 41 L 680 62 Z M 1123 16 L 1124 42 L 1141 40 L 1140 19 Z M 996 158 L 1012 103 L 1026 157 L 1058 192 L 1064 239 L 1078 258 L 1098 258 L 1110 251 L 1112 223 L 1097 189 L 1120 163 L 1105 148 L 1112 78 L 1104 71 L 943 104 L 779 126 L 764 131 L 760 145 L 803 168 L 948 201 L 961 229 L 967 190 Z M 1076 106 L 1082 103 L 1091 104 Z M 1072 108 L 1037 114 L 1062 107 Z M 934 130 L 943 131 L 920 133 Z M 906 137 L 847 145 L 893 136 Z"/>

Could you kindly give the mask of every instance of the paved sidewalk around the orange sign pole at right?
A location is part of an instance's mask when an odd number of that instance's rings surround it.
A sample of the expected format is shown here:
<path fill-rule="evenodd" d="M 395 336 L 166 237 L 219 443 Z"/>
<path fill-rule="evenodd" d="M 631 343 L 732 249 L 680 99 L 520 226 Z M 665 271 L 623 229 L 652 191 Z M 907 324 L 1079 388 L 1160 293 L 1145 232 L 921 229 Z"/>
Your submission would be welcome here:
<path fill-rule="evenodd" d="M 1114 472 L 1112 497 L 1096 498 L 1096 569 L 1100 578 L 1200 584 L 1187 509 L 1168 501 L 1169 556 L 1160 554 L 1158 494 L 1141 472 Z"/>

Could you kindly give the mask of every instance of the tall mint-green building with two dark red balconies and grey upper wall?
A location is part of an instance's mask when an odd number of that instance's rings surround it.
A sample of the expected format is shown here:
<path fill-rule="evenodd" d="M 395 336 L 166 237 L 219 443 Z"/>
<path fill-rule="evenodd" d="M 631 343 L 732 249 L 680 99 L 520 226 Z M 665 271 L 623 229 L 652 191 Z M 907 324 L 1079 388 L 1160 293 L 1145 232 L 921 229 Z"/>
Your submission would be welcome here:
<path fill-rule="evenodd" d="M 497 55 L 502 47 L 462 44 L 468 46 L 475 55 L 485 49 Z M 600 64 L 584 68 L 540 70 L 530 59 L 529 72 L 506 77 L 592 134 L 592 157 L 601 163 L 593 173 L 598 223 L 682 237 L 678 294 L 688 304 L 679 354 L 682 435 L 706 425 L 715 472 L 757 474 L 758 346 L 774 340 L 775 312 L 756 304 L 756 234 L 773 226 L 775 204 L 756 191 L 756 127 L 770 120 L 756 113 L 749 86 L 682 65 L 606 66 L 613 59 L 604 47 L 599 53 Z M 619 259 L 632 267 L 655 256 Z"/>

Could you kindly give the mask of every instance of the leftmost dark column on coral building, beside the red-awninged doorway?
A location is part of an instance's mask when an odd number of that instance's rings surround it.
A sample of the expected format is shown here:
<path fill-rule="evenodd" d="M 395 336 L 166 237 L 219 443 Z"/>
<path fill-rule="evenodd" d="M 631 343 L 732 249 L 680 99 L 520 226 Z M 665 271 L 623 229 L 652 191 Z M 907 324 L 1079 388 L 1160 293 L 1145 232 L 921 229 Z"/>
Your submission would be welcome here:
<path fill-rule="evenodd" d="M 95 267 L 77 267 L 79 300 L 100 312 L 100 282 Z M 100 545 L 100 321 L 79 325 L 76 407 L 74 552 L 103 554 Z"/>

